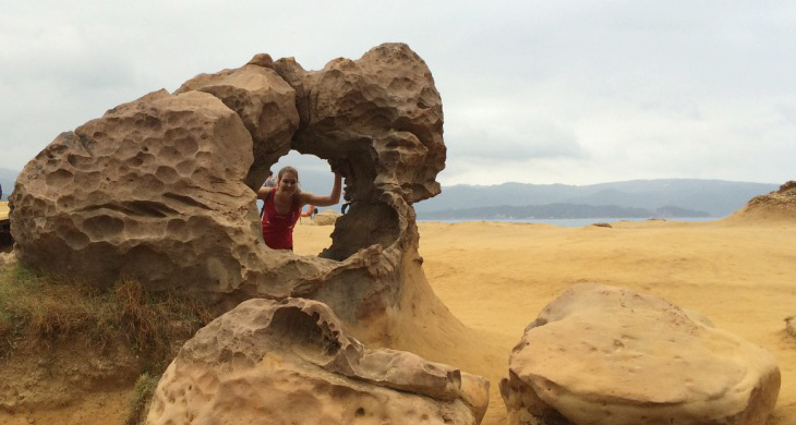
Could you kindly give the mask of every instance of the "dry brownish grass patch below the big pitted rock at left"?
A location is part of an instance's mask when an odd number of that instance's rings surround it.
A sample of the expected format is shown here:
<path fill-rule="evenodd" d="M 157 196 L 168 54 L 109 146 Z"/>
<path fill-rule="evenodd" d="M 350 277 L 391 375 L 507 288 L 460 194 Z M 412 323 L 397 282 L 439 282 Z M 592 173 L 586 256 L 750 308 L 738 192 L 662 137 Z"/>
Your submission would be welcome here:
<path fill-rule="evenodd" d="M 174 341 L 190 338 L 212 318 L 203 304 L 144 291 L 134 279 L 100 288 L 36 274 L 19 263 L 0 271 L 0 356 L 17 343 L 48 345 L 80 336 L 100 349 L 123 341 L 150 364 L 165 364 Z"/>

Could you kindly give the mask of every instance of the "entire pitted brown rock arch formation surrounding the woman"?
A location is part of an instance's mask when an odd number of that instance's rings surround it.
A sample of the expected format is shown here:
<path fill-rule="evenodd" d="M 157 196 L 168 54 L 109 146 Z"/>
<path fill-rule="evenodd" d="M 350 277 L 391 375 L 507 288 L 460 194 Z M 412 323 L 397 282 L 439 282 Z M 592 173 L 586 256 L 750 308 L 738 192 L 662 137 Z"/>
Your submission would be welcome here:
<path fill-rule="evenodd" d="M 289 148 L 346 175 L 352 204 L 322 258 L 262 241 L 252 187 Z M 58 136 L 17 179 L 12 234 L 33 268 L 222 305 L 309 296 L 353 324 L 394 307 L 422 262 L 412 203 L 444 166 L 442 100 L 408 46 L 321 71 L 257 54 Z"/>

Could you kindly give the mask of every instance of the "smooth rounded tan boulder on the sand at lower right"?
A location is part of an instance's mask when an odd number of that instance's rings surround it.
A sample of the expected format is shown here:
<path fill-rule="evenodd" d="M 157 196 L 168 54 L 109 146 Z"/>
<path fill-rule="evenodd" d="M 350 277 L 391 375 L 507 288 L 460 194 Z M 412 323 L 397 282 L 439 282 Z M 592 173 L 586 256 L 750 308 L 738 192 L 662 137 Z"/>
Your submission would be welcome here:
<path fill-rule="evenodd" d="M 511 351 L 511 424 L 763 425 L 780 369 L 703 317 L 625 289 L 578 284 Z"/>

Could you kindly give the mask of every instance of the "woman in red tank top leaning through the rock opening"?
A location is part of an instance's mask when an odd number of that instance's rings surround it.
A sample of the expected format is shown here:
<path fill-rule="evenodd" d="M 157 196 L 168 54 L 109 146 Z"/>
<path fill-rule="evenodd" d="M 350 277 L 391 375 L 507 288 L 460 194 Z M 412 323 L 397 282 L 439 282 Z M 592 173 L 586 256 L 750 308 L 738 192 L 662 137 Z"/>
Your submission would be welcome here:
<path fill-rule="evenodd" d="M 257 198 L 263 199 L 263 240 L 273 250 L 293 251 L 293 228 L 306 204 L 328 207 L 340 202 L 340 174 L 328 196 L 299 190 L 299 171 L 285 167 L 277 173 L 276 186 L 262 186 Z"/>

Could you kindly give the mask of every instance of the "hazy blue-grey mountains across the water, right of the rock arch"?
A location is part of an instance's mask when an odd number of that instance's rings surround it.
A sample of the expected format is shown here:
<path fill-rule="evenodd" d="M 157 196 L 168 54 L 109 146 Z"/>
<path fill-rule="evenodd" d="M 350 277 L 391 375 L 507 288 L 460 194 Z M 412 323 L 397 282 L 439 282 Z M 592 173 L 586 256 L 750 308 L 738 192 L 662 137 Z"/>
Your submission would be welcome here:
<path fill-rule="evenodd" d="M 445 219 L 446 214 L 458 215 L 459 212 L 455 212 L 457 210 L 468 210 L 467 214 L 472 215 L 473 209 L 481 207 L 505 209 L 505 207 L 548 205 L 558 205 L 553 210 L 567 216 L 579 214 L 572 208 L 596 214 L 595 210 L 588 209 L 586 206 L 602 206 L 638 208 L 646 210 L 646 214 L 649 215 L 638 217 L 724 217 L 740 209 L 752 197 L 777 187 L 779 184 L 774 183 L 696 179 L 632 180 L 583 186 L 524 183 L 504 183 L 494 186 L 454 185 L 445 186 L 439 195 L 415 204 L 414 209 L 421 220 Z M 568 205 L 568 207 L 564 208 L 560 205 Z M 531 209 L 528 211 L 530 214 Z M 607 209 L 603 209 L 603 214 L 607 211 Z M 486 211 L 483 212 L 486 214 Z M 616 214 L 619 214 L 619 210 Z M 555 215 L 550 217 L 565 218 Z M 583 218 L 598 217 L 632 218 L 637 216 L 611 215 Z M 486 219 L 487 217 L 471 218 Z M 450 219 L 455 218 L 451 216 Z"/>

